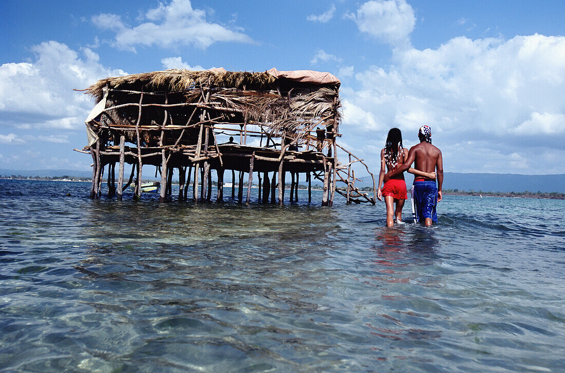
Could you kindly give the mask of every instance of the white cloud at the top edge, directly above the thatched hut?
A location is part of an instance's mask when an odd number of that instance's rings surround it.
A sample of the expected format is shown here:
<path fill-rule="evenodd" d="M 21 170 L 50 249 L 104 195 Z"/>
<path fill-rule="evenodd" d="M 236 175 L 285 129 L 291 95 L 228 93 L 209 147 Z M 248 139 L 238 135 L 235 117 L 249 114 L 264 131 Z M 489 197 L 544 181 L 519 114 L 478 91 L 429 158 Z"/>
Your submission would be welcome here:
<path fill-rule="evenodd" d="M 206 12 L 194 9 L 189 0 L 159 3 L 144 15 L 145 22 L 137 26 L 126 24 L 120 15 L 100 14 L 92 21 L 101 29 L 115 32 L 112 44 L 135 51 L 136 46 L 194 45 L 205 49 L 215 42 L 253 42 L 246 34 L 206 19 Z"/>

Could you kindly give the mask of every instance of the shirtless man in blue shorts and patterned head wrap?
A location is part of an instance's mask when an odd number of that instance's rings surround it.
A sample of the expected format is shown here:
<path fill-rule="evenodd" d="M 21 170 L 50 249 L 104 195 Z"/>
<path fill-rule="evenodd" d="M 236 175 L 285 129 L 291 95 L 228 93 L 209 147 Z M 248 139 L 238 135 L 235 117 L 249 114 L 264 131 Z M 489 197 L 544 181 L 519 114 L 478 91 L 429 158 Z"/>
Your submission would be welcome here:
<path fill-rule="evenodd" d="M 405 172 L 414 161 L 414 168 L 423 172 L 437 172 L 437 186 L 433 179 L 420 176 L 414 178 L 412 201 L 415 208 L 415 221 L 424 221 L 429 227 L 437 222 L 436 205 L 441 201 L 441 187 L 444 183 L 444 161 L 441 151 L 432 145 L 432 130 L 429 126 L 421 126 L 418 131 L 420 143 L 410 148 L 408 159 L 396 170 L 385 175 L 384 181 L 399 173 Z M 436 171 L 437 170 L 437 171 Z"/>

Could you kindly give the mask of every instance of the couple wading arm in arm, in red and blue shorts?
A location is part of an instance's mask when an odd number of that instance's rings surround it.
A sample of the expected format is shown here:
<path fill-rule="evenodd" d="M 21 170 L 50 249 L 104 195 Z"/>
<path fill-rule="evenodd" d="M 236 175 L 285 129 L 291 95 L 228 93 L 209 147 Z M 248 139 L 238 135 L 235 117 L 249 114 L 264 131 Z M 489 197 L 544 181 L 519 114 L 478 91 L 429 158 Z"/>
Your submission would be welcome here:
<path fill-rule="evenodd" d="M 403 174 L 405 171 L 414 174 L 414 185 L 411 188 L 414 222 L 422 222 L 426 226 L 437 222 L 436 205 L 441 201 L 444 163 L 441 151 L 432 145 L 432 130 L 429 126 L 421 126 L 418 137 L 420 143 L 408 151 L 402 146 L 401 131 L 398 128 L 390 129 L 386 137 L 385 148 L 381 150 L 377 196 L 381 201 L 383 197 L 385 199 L 386 226 L 388 227 L 393 226 L 394 218 L 398 223 L 402 222 L 402 207 L 407 199 Z M 411 167 L 412 163 L 415 163 L 414 168 Z M 394 203 L 396 203 L 396 208 L 394 208 Z"/>

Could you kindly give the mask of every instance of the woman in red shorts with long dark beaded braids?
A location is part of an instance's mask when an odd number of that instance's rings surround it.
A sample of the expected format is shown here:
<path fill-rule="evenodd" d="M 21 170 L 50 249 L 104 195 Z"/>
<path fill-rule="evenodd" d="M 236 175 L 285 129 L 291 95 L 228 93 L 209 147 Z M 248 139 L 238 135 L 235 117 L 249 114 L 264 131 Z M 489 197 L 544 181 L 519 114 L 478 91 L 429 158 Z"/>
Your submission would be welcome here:
<path fill-rule="evenodd" d="M 402 222 L 402 207 L 404 206 L 404 201 L 407 198 L 406 194 L 406 182 L 404 181 L 404 174 L 398 174 L 393 178 L 389 179 L 381 189 L 383 185 L 383 179 L 386 170 L 392 171 L 396 169 L 399 165 L 403 164 L 408 157 L 408 149 L 402 147 L 402 133 L 398 128 L 392 128 L 389 131 L 388 137 L 386 137 L 385 148 L 381 150 L 381 170 L 379 173 L 379 190 L 377 191 L 377 197 L 380 201 L 385 198 L 386 204 L 386 226 L 392 227 L 394 224 L 394 215 L 396 215 L 396 221 Z M 386 170 L 385 170 L 386 165 Z M 427 173 L 416 170 L 415 168 L 409 168 L 408 172 L 423 176 L 431 179 L 436 178 L 436 173 Z M 393 214 L 393 204 L 396 202 L 396 209 Z"/>

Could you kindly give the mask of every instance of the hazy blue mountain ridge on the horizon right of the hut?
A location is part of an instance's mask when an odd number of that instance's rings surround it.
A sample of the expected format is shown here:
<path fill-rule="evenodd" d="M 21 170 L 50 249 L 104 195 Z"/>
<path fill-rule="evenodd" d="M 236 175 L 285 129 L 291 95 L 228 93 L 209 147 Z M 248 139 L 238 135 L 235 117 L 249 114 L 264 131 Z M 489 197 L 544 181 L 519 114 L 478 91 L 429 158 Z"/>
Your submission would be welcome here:
<path fill-rule="evenodd" d="M 378 182 L 375 174 L 375 182 Z M 363 182 L 355 186 L 372 186 L 370 175 L 357 177 Z M 412 174 L 405 173 L 406 185 L 414 181 Z M 565 174 L 555 175 L 520 175 L 520 174 L 486 174 L 486 173 L 444 173 L 444 189 L 483 192 L 559 192 L 565 193 Z"/>

